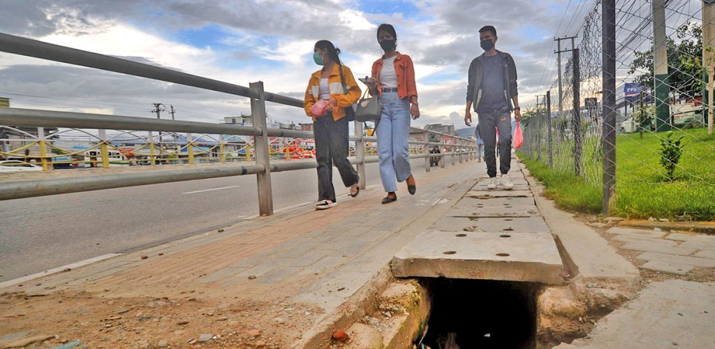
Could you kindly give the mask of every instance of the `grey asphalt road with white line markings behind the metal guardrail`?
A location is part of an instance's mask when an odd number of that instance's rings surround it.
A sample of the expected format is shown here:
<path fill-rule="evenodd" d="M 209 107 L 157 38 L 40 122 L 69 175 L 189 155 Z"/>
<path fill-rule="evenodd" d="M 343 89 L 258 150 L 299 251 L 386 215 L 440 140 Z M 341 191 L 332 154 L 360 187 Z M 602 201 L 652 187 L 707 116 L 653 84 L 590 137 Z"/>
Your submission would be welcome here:
<path fill-rule="evenodd" d="M 414 159 L 413 171 L 423 172 L 424 164 Z M 334 172 L 337 194 L 347 193 Z M 368 164 L 366 177 L 368 186 L 380 185 L 377 164 Z M 315 169 L 274 173 L 272 188 L 276 209 L 315 201 Z M 255 176 L 0 201 L 0 282 L 199 234 L 257 213 Z"/>

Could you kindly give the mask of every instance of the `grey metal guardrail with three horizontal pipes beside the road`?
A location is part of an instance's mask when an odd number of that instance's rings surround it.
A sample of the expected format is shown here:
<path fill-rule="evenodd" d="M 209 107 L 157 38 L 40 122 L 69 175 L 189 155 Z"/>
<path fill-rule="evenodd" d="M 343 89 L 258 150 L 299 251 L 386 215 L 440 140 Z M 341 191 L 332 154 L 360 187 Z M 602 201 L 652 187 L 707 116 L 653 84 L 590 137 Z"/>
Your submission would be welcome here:
<path fill-rule="evenodd" d="M 65 46 L 48 44 L 42 41 L 2 33 L 0 33 L 0 51 L 248 97 L 251 99 L 251 115 L 253 118 L 252 126 L 234 126 L 144 117 L 0 108 L 0 125 L 100 129 L 101 132 L 104 132 L 104 129 L 122 129 L 134 131 L 187 132 L 189 134 L 193 132 L 242 135 L 254 137 L 255 147 L 255 164 L 0 182 L 0 200 L 256 174 L 258 178 L 260 215 L 272 215 L 270 173 L 317 167 L 317 162 L 315 161 L 297 160 L 270 163 L 268 137 L 313 138 L 313 133 L 267 128 L 265 102 L 274 102 L 300 108 L 302 108 L 303 102 L 300 99 L 264 92 L 262 82 L 251 83 L 250 87 L 242 87 L 215 79 L 177 72 L 172 69 L 154 67 L 149 64 L 132 62 L 127 59 L 119 59 L 117 57 L 71 49 Z M 475 157 L 476 147 L 473 140 L 414 127 L 411 128 L 411 131 L 424 132 L 424 142 L 410 141 L 410 144 L 423 145 L 424 153 L 410 154 L 410 158 L 424 158 L 426 171 L 430 171 L 429 162 L 431 157 L 442 157 L 444 160 L 445 157 L 450 156 L 452 164 L 455 164 L 456 157 L 458 157 L 459 162 Z M 429 142 L 430 134 L 437 135 L 440 138 L 440 142 Z M 44 142 L 42 137 L 44 136 L 41 136 L 41 142 Z M 445 141 L 446 137 L 450 137 L 450 142 Z M 351 158 L 350 162 L 357 165 L 358 172 L 360 173 L 360 187 L 364 189 L 365 164 L 378 162 L 377 157 L 365 157 L 365 142 L 376 142 L 377 139 L 375 137 L 363 136 L 363 124 L 355 122 L 355 135 L 351 136 L 350 140 L 355 141 L 355 158 Z M 451 151 L 440 154 L 430 154 L 429 145 L 438 145 L 440 149 L 449 148 Z M 41 149 L 43 149 L 43 147 L 41 147 Z M 463 152 L 463 149 L 467 150 Z M 102 152 L 105 152 L 104 159 L 107 159 L 106 151 L 106 144 L 102 144 Z M 45 156 L 43 155 L 43 157 Z M 109 166 L 108 162 L 104 164 L 106 167 Z M 444 166 L 445 161 L 440 161 L 440 167 Z"/>

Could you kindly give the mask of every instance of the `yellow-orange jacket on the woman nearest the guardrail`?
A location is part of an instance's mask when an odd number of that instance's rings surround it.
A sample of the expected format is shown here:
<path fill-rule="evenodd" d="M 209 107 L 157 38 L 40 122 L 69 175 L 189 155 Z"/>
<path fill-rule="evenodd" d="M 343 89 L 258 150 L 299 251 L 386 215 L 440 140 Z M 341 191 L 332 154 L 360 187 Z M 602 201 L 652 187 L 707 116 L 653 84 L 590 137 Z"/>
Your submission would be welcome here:
<path fill-rule="evenodd" d="M 355 77 L 352 77 L 352 72 L 350 68 L 342 66 L 342 75 L 345 77 L 345 86 L 347 87 L 347 94 L 342 91 L 342 82 L 340 82 L 340 66 L 338 64 L 332 64 L 332 72 L 330 72 L 330 77 L 327 78 L 327 84 L 330 88 L 330 97 L 335 97 L 337 100 L 337 108 L 332 112 L 332 119 L 340 119 L 345 117 L 345 107 L 350 107 L 355 102 L 358 102 L 360 95 L 363 91 L 360 90 L 358 83 L 355 82 Z M 310 75 L 310 81 L 308 81 L 308 87 L 305 89 L 305 98 L 303 98 L 303 109 L 305 109 L 305 114 L 312 117 L 315 121 L 315 117 L 310 114 L 310 107 L 312 107 L 315 102 L 320 99 L 320 76 L 322 75 L 322 69 Z"/>

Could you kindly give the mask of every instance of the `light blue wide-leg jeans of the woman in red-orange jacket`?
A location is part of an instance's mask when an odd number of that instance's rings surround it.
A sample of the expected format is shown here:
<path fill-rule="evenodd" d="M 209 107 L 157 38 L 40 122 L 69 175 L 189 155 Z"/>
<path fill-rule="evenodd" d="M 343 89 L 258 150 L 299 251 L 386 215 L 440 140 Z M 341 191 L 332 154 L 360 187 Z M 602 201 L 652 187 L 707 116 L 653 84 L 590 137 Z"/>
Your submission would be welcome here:
<path fill-rule="evenodd" d="M 377 129 L 380 178 L 385 192 L 396 192 L 397 182 L 404 182 L 412 174 L 407 144 L 410 102 L 407 98 L 399 99 L 397 92 L 383 93 L 380 102 L 383 103 L 383 114 Z"/>

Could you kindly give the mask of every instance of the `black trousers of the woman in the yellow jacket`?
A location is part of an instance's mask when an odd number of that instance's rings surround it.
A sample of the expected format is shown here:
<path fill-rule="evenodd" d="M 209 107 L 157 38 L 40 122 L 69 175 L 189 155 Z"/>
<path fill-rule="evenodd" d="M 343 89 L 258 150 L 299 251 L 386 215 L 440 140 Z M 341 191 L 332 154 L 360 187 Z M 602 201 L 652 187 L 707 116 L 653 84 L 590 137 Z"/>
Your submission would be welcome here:
<path fill-rule="evenodd" d="M 335 121 L 332 113 L 318 117 L 313 122 L 315 134 L 315 159 L 317 160 L 318 201 L 335 200 L 335 188 L 332 187 L 332 165 L 340 172 L 342 184 L 350 187 L 358 182 L 358 171 L 347 160 L 347 118 Z"/>

